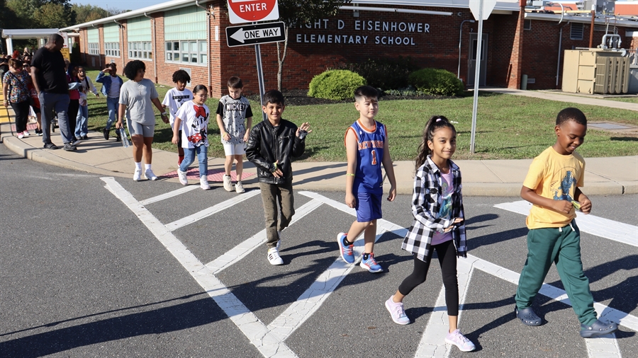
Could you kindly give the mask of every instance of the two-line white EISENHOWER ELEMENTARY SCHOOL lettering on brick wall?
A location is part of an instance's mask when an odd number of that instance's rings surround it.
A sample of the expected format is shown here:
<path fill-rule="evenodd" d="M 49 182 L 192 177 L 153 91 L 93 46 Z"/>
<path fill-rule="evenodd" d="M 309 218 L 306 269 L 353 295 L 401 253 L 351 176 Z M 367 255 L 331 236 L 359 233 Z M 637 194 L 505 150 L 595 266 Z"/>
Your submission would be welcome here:
<path fill-rule="evenodd" d="M 345 22 L 337 20 L 330 23 L 325 18 L 306 25 L 301 25 L 304 29 L 323 30 L 344 30 Z M 296 42 L 299 43 L 325 43 L 325 44 L 361 44 L 361 45 L 417 45 L 411 34 L 430 33 L 429 23 L 406 23 L 398 21 L 364 21 L 356 20 L 353 23 L 354 31 L 385 32 L 385 33 L 405 33 L 405 35 L 341 35 L 341 34 L 317 34 L 298 33 Z"/>

